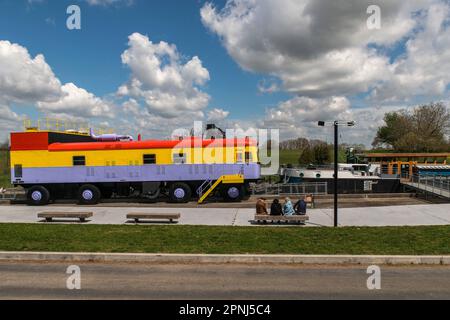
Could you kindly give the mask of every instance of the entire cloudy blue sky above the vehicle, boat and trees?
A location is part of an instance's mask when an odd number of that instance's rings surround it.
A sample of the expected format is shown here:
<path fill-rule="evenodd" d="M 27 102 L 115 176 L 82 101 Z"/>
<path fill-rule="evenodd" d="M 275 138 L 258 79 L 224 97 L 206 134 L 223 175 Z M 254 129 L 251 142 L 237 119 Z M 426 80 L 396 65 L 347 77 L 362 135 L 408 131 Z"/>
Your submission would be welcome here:
<path fill-rule="evenodd" d="M 448 0 L 0 0 L 0 140 L 52 117 L 331 142 L 339 119 L 370 145 L 385 112 L 448 103 L 449 22 Z"/>

